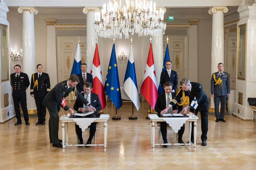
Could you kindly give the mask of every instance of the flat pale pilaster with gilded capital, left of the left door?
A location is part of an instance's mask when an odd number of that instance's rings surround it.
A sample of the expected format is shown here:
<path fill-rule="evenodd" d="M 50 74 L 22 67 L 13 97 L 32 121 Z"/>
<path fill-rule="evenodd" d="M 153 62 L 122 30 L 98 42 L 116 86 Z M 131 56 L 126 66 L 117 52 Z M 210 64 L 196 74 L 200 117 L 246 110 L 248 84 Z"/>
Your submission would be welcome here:
<path fill-rule="evenodd" d="M 56 19 L 46 19 L 47 23 L 47 61 L 46 69 L 50 76 L 52 88 L 58 83 L 57 82 L 57 55 L 56 55 L 56 35 L 55 35 L 55 26 Z"/>

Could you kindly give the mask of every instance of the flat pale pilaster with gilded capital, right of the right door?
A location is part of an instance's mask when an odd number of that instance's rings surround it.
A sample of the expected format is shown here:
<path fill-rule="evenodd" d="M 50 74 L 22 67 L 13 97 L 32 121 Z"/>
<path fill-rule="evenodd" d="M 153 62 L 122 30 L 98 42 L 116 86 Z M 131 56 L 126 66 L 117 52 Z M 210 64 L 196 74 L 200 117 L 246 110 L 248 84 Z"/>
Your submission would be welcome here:
<path fill-rule="evenodd" d="M 189 72 L 188 79 L 191 82 L 198 81 L 197 75 L 197 24 L 199 19 L 189 19 Z"/>

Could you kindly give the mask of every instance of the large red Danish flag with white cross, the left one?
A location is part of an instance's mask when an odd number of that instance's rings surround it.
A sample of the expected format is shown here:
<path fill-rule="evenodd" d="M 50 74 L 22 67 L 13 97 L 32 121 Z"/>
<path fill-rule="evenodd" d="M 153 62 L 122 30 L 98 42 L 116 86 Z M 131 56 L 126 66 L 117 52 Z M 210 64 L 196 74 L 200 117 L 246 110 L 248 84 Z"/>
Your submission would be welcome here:
<path fill-rule="evenodd" d="M 98 44 L 96 44 L 96 48 L 95 48 L 95 52 L 94 52 L 91 74 L 93 75 L 93 90 L 92 90 L 92 92 L 99 95 L 100 104 L 101 104 L 102 110 L 103 110 L 106 107 L 107 103 L 106 103 L 106 97 L 105 97 L 105 91 L 104 91 L 104 85 L 103 85 L 103 79 L 102 79 L 102 72 L 101 72 L 101 67 L 100 67 Z"/>

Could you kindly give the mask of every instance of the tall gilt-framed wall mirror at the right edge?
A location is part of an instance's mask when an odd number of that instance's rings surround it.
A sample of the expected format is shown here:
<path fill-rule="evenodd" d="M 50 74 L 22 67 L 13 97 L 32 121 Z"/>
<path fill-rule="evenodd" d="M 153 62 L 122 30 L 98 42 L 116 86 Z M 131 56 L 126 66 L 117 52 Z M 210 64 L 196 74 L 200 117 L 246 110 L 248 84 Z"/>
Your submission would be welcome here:
<path fill-rule="evenodd" d="M 246 24 L 238 26 L 238 68 L 237 79 L 245 80 L 246 76 Z"/>

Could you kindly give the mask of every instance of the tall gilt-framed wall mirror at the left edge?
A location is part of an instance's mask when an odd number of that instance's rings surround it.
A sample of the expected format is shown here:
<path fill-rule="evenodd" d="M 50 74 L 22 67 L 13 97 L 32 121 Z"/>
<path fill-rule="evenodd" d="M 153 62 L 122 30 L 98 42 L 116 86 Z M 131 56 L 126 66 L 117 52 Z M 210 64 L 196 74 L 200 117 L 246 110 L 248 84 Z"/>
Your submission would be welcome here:
<path fill-rule="evenodd" d="M 8 27 L 0 24 L 1 82 L 9 80 Z"/>

